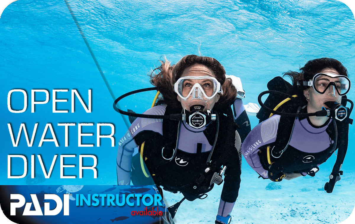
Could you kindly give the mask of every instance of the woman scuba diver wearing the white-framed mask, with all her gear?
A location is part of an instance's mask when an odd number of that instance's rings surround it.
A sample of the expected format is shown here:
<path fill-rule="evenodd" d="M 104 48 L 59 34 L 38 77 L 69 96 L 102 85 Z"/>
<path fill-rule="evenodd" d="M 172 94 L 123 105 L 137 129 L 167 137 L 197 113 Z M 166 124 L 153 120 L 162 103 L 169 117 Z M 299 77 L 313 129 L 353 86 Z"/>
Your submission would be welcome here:
<path fill-rule="evenodd" d="M 182 201 L 203 199 L 214 184 L 224 182 L 215 223 L 229 223 L 240 186 L 241 141 L 251 130 L 240 79 L 227 78 L 211 57 L 187 55 L 176 65 L 160 62 L 151 74 L 162 94 L 155 106 L 143 114 L 115 108 L 137 117 L 118 148 L 118 184 L 132 180 L 156 184 L 161 194 L 161 188 L 181 192 L 184 198 L 168 208 L 173 218 Z"/>

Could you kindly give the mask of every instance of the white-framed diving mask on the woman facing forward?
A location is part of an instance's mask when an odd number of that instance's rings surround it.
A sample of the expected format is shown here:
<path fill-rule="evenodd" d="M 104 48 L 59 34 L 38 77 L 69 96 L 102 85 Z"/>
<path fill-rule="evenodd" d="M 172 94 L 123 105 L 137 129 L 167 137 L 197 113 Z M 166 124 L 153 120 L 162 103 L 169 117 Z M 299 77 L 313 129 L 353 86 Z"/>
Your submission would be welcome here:
<path fill-rule="evenodd" d="M 184 76 L 174 84 L 174 91 L 178 96 L 186 100 L 190 96 L 192 99 L 209 100 L 217 93 L 223 94 L 221 84 L 216 78 L 211 76 Z"/>

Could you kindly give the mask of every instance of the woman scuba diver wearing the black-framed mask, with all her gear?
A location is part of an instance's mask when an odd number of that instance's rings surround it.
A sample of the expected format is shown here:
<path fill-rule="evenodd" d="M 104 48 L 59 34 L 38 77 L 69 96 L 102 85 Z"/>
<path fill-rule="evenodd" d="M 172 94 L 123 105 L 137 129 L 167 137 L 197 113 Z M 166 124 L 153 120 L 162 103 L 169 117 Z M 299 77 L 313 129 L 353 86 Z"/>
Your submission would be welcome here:
<path fill-rule="evenodd" d="M 340 168 L 352 124 L 353 102 L 345 96 L 350 90 L 348 71 L 333 58 L 319 58 L 308 61 L 300 72 L 288 71 L 284 76 L 289 76 L 293 85 L 275 77 L 268 83 L 269 91 L 259 95 L 260 123 L 243 142 L 242 155 L 260 177 L 279 182 L 315 176 L 318 166 L 338 149 L 324 186 L 331 193 L 343 174 Z M 262 103 L 266 93 L 269 96 Z"/>

